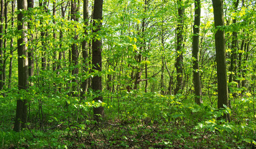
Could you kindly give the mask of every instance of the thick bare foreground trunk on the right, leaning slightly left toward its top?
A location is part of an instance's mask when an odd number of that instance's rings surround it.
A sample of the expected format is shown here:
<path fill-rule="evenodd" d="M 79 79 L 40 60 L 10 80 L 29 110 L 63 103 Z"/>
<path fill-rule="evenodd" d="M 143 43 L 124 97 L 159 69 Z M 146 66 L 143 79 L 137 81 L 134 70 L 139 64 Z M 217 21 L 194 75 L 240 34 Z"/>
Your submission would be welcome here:
<path fill-rule="evenodd" d="M 227 90 L 227 70 L 225 61 L 225 32 L 223 0 L 212 0 L 214 9 L 214 26 L 215 33 L 215 47 L 216 47 L 216 63 L 217 63 L 217 89 L 218 89 L 218 103 L 217 108 L 229 107 L 229 94 Z M 226 120 L 230 121 L 229 114 L 225 114 Z"/>

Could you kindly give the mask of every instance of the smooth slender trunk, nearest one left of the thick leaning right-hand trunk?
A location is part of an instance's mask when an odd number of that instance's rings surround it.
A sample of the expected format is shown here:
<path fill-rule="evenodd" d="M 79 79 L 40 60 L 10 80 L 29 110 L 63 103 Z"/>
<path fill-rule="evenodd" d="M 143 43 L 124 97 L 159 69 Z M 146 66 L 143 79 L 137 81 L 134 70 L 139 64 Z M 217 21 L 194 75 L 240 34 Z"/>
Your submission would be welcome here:
<path fill-rule="evenodd" d="M 195 16 L 193 26 L 193 47 L 192 47 L 192 61 L 193 61 L 193 81 L 194 94 L 196 104 L 202 104 L 202 89 L 199 71 L 199 32 L 200 32 L 200 17 L 201 17 L 201 0 L 195 0 Z"/>

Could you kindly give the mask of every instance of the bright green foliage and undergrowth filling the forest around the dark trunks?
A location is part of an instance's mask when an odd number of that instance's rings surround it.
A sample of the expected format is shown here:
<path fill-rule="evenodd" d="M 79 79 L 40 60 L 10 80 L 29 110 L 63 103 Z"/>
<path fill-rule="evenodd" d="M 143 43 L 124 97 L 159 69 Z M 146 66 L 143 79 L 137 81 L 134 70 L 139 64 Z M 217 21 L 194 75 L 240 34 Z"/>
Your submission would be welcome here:
<path fill-rule="evenodd" d="M 216 109 L 217 68 L 211 1 L 202 2 L 199 70 L 192 69 L 191 58 L 193 1 L 183 1 L 186 14 L 181 51 L 184 83 L 183 93 L 175 96 L 176 1 L 156 0 L 145 4 L 141 0 L 106 0 L 102 29 L 95 34 L 91 32 L 96 29 L 92 19 L 88 20 L 88 25 L 83 24 L 82 9 L 77 12 L 79 21 L 76 22 L 70 20 L 70 6 L 66 1 L 56 1 L 57 13 L 52 16 L 52 2 L 46 5 L 47 11 L 42 11 L 44 7 L 38 7 L 37 2 L 29 12 L 22 11 L 29 15 L 25 20 L 31 25 L 27 37 L 34 38 L 24 43 L 29 52 L 34 48 L 35 66 L 34 76 L 29 78 L 31 86 L 26 91 L 17 87 L 16 48 L 20 37 L 17 21 L 14 20 L 14 27 L 10 26 L 11 21 L 7 22 L 9 26 L 2 37 L 7 40 L 7 47 L 1 48 L 6 72 L 11 57 L 13 65 L 11 83 L 6 78 L 6 86 L 0 91 L 0 148 L 255 147 L 255 6 L 251 1 L 244 1 L 244 6 L 240 4 L 237 10 L 231 1 L 224 1 L 225 27 L 221 30 L 225 30 L 228 67 L 235 51 L 231 48 L 232 33 L 238 34 L 237 70 L 228 73 L 234 75 L 234 79 L 229 82 L 230 107 L 225 109 Z M 91 13 L 93 2 L 89 5 Z M 61 6 L 67 6 L 65 17 Z M 16 11 L 14 17 L 17 13 L 21 11 Z M 7 13 L 7 16 L 10 19 L 12 14 Z M 234 19 L 236 23 L 232 23 Z M 43 32 L 45 35 L 41 36 Z M 102 71 L 92 71 L 90 45 L 93 38 L 103 40 Z M 14 39 L 13 47 L 11 39 Z M 83 41 L 88 45 L 86 65 L 81 56 Z M 241 49 L 242 41 L 244 47 L 249 48 Z M 72 63 L 72 44 L 79 47 L 77 65 Z M 42 58 L 46 59 L 46 70 L 41 68 Z M 57 66 L 56 71 L 53 71 L 54 66 Z M 86 70 L 82 70 L 84 66 Z M 72 73 L 75 68 L 78 74 Z M 161 68 L 164 68 L 163 78 Z M 193 71 L 201 75 L 204 104 L 200 106 L 193 104 Z M 141 80 L 138 89 L 133 89 L 138 81 L 136 74 L 141 75 Z M 102 76 L 103 91 L 92 91 L 89 86 L 80 96 L 80 84 L 95 76 Z M 103 101 L 93 101 L 98 96 L 102 96 Z M 28 127 L 19 133 L 12 131 L 17 99 L 29 101 Z M 104 107 L 105 115 L 97 123 L 93 120 L 93 107 L 100 106 Z M 221 119 L 224 114 L 230 114 L 231 122 Z"/>

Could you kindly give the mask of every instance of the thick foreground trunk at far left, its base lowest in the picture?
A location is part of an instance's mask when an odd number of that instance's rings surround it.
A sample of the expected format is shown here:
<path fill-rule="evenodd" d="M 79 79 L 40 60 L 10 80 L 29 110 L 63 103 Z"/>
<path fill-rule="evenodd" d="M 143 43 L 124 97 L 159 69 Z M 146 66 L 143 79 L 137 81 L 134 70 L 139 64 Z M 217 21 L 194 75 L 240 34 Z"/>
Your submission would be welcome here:
<path fill-rule="evenodd" d="M 19 75 L 19 91 L 22 95 L 24 90 L 28 87 L 28 55 L 27 55 L 27 22 L 24 20 L 24 11 L 27 11 L 27 1 L 18 0 L 17 9 L 19 13 L 17 14 L 17 30 L 21 33 L 21 36 L 17 38 L 17 50 L 18 50 L 18 75 Z M 25 44 L 24 44 L 25 43 Z M 22 128 L 26 127 L 27 122 L 27 99 L 17 99 L 16 107 L 16 119 L 14 124 L 14 131 L 19 132 Z"/>

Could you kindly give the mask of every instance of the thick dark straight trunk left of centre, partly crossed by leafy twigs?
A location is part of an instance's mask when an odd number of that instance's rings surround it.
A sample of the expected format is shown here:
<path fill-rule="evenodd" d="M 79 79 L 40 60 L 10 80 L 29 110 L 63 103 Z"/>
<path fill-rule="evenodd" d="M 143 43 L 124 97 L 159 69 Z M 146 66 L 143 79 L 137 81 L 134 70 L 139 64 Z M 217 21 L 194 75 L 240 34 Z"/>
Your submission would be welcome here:
<path fill-rule="evenodd" d="M 102 7 L 103 0 L 95 0 L 93 6 L 93 26 L 95 29 L 92 30 L 93 34 L 99 34 L 100 27 L 102 26 Z M 94 37 L 92 40 L 92 65 L 95 73 L 100 73 L 102 71 L 102 39 Z M 96 95 L 93 101 L 102 101 L 103 97 L 100 95 L 102 92 L 102 76 L 100 74 L 95 74 L 92 78 L 92 89 Z M 93 115 L 95 120 L 100 120 L 99 118 L 103 116 L 104 108 L 94 107 Z"/>

